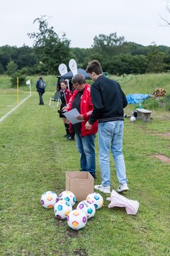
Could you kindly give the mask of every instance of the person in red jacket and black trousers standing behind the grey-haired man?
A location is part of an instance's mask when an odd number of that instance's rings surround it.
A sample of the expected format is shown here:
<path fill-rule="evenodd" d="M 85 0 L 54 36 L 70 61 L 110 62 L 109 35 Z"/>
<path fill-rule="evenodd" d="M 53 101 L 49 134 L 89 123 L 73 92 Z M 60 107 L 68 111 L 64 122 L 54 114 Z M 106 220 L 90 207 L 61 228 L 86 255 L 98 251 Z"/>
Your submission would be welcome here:
<path fill-rule="evenodd" d="M 67 103 L 69 103 L 69 100 L 72 97 L 72 92 L 70 92 L 70 90 L 67 89 L 67 81 L 66 80 L 62 80 L 60 82 L 60 85 L 62 88 L 62 90 L 60 90 L 61 105 L 60 105 L 60 110 L 58 110 L 58 112 L 60 113 L 60 117 L 62 118 L 65 130 L 66 130 L 66 134 L 64 135 L 64 137 L 70 137 L 69 120 L 62 114 L 62 111 L 64 110 L 64 107 L 66 107 Z"/>

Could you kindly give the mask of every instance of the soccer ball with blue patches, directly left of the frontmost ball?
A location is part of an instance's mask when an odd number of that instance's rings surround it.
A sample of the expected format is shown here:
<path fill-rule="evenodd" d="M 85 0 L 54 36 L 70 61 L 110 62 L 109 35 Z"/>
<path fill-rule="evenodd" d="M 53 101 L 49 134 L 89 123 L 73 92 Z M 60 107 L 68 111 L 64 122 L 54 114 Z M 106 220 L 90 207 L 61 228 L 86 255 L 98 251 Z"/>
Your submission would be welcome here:
<path fill-rule="evenodd" d="M 72 206 L 69 202 L 60 200 L 55 204 L 54 213 L 58 219 L 67 218 L 67 215 L 72 211 Z"/>

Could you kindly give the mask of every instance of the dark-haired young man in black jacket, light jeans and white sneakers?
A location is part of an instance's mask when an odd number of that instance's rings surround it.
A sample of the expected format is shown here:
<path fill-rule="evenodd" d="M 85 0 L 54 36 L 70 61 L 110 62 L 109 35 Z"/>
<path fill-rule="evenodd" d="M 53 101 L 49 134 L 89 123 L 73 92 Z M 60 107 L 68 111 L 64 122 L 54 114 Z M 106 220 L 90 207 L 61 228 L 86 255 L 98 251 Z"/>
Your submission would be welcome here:
<path fill-rule="evenodd" d="M 111 193 L 111 169 L 109 150 L 113 154 L 116 174 L 119 181 L 118 192 L 128 191 L 123 148 L 123 108 L 128 105 L 125 93 L 118 82 L 103 76 L 98 60 L 93 60 L 86 68 L 94 83 L 91 85 L 91 100 L 94 110 L 86 129 L 98 120 L 99 163 L 102 183 L 94 186 L 103 193 Z"/>

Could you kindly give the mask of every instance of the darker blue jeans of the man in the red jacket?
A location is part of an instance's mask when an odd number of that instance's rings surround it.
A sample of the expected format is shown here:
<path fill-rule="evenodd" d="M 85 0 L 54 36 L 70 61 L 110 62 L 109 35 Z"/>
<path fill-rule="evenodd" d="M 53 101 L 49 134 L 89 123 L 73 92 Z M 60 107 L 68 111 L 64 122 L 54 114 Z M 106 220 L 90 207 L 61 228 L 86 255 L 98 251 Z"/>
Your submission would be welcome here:
<path fill-rule="evenodd" d="M 81 137 L 81 134 L 76 133 L 77 150 L 80 153 L 81 171 L 89 171 L 91 174 L 96 174 L 95 137 L 96 134 Z"/>

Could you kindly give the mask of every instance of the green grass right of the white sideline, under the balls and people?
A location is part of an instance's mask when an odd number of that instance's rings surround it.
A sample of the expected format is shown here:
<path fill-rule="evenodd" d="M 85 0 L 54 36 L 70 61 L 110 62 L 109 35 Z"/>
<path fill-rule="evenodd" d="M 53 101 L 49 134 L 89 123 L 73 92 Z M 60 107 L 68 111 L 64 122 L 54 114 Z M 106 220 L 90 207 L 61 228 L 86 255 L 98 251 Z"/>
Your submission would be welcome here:
<path fill-rule="evenodd" d="M 170 90 L 166 74 L 166 82 L 160 86 L 155 82 L 163 81 L 163 75 L 156 75 L 156 78 L 152 75 L 152 78 L 148 76 L 145 81 L 143 75 L 141 80 L 140 76 L 131 76 L 121 78 L 120 83 L 125 94 L 152 92 L 157 87 Z M 49 84 L 55 87 L 53 82 Z M 4 89 L 0 93 L 2 91 Z M 107 196 L 101 193 L 103 208 L 77 232 L 68 227 L 66 220 L 57 220 L 52 209 L 45 210 L 40 205 L 40 197 L 45 191 L 59 194 L 64 190 L 65 171 L 79 171 L 75 142 L 68 142 L 63 137 L 64 125 L 57 107 L 48 107 L 54 91 L 47 90 L 45 105 L 39 106 L 38 93 L 34 90 L 32 97 L 0 123 L 0 254 L 169 255 L 170 165 L 156 158 L 159 154 L 170 159 L 169 112 L 153 111 L 149 123 L 141 120 L 132 123 L 125 119 L 123 153 L 130 191 L 123 195 L 140 202 L 137 215 L 127 215 L 125 208 L 108 209 Z M 132 108 L 134 106 L 129 105 L 125 114 L 129 115 Z M 96 167 L 95 183 L 98 184 L 101 174 L 97 137 Z M 116 189 L 118 180 L 112 157 L 111 170 L 111 188 Z"/>

